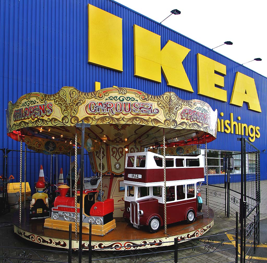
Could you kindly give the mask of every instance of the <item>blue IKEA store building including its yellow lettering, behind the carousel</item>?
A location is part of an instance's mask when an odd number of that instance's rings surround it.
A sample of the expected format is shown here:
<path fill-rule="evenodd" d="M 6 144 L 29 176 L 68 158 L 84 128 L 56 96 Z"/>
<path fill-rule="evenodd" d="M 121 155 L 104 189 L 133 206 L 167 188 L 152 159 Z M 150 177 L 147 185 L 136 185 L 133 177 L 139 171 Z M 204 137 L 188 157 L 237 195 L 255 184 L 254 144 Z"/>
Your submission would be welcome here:
<path fill-rule="evenodd" d="M 6 135 L 8 101 L 30 92 L 54 94 L 64 86 L 83 92 L 112 86 L 152 95 L 172 91 L 203 100 L 218 109 L 208 169 L 223 172 L 220 156 L 240 152 L 237 138 L 244 136 L 260 150 L 261 180 L 267 179 L 266 77 L 112 0 L 1 1 L 0 11 L 0 154 L 7 154 L 7 175 L 14 181 L 19 142 Z M 33 181 L 40 163 L 48 162 L 50 174 L 50 157 L 27 158 Z M 237 155 L 234 171 L 240 165 Z M 92 175 L 87 162 L 85 174 Z"/>

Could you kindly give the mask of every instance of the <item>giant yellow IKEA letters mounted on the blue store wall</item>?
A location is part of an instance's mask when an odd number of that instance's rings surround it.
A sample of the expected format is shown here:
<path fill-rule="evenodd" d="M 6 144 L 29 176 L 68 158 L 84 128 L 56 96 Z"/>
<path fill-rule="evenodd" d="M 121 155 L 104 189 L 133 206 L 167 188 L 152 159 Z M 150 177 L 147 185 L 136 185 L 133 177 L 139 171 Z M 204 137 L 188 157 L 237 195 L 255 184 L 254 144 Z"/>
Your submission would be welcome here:
<path fill-rule="evenodd" d="M 122 18 L 88 4 L 88 62 L 123 71 Z M 134 75 L 161 82 L 161 73 L 168 86 L 194 92 L 182 61 L 190 52 L 171 40 L 161 49 L 160 35 L 133 25 Z M 226 66 L 197 54 L 198 94 L 227 102 L 224 90 Z M 230 104 L 261 112 L 253 78 L 236 72 Z"/>

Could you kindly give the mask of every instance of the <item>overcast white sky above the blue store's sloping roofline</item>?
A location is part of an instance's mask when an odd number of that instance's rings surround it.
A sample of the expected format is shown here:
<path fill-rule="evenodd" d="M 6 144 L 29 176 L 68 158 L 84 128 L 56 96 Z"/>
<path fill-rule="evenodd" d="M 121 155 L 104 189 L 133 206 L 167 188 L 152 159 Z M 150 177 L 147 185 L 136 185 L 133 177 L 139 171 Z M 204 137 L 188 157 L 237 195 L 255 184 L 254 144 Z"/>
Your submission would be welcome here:
<path fill-rule="evenodd" d="M 267 76 L 267 15 L 263 0 L 115 0 L 157 22 L 170 11 L 178 9 L 180 15 L 171 15 L 162 24 L 218 53 Z"/>

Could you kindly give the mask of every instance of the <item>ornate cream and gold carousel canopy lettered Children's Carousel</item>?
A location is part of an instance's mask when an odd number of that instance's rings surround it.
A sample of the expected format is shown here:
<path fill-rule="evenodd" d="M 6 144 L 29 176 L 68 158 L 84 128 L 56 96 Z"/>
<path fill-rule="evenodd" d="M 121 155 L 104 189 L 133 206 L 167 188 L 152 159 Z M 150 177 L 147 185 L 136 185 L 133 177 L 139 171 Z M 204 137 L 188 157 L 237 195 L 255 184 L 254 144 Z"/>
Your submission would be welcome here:
<path fill-rule="evenodd" d="M 163 130 L 169 146 L 203 144 L 213 141 L 217 133 L 217 110 L 201 100 L 182 100 L 173 92 L 153 96 L 120 87 L 89 93 L 63 87 L 56 94 L 31 92 L 14 104 L 9 102 L 7 135 L 37 152 L 69 153 L 75 133 L 81 141 L 76 124 L 82 121 L 90 124 L 84 146 L 89 153 L 103 147 L 105 171 L 124 166 L 125 149 L 162 145 Z M 96 159 L 94 153 L 91 162 L 99 166 Z M 123 167 L 115 172 L 123 172 Z"/>

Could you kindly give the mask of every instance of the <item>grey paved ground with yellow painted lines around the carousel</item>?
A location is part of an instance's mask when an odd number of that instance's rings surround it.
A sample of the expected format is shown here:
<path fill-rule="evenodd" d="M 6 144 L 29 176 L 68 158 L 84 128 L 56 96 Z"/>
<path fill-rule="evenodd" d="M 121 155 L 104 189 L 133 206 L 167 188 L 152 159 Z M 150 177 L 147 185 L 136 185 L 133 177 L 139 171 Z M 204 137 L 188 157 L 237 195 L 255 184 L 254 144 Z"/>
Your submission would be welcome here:
<path fill-rule="evenodd" d="M 209 187 L 211 189 L 211 187 Z M 215 189 L 217 190 L 217 189 Z M 261 182 L 261 205 L 260 205 L 260 231 L 261 231 L 261 244 L 258 246 L 256 250 L 256 254 L 252 255 L 253 259 L 252 262 L 257 261 L 267 261 L 267 199 L 265 198 L 265 192 L 267 191 L 267 181 Z M 210 196 L 210 200 L 212 200 L 212 196 Z M 203 239 L 200 243 L 197 244 L 197 248 L 192 249 L 192 242 L 185 242 L 179 244 L 179 253 L 178 253 L 178 262 L 187 262 L 190 260 L 190 263 L 199 262 L 209 262 L 209 263 L 230 263 L 234 261 L 234 254 L 235 254 L 235 246 L 234 242 L 231 242 L 233 239 L 233 232 L 235 229 L 235 218 L 226 218 L 224 214 L 224 210 L 222 211 L 218 206 L 212 207 L 215 213 L 214 217 L 214 226 L 211 230 L 206 233 L 206 235 L 213 235 L 213 234 L 222 234 L 222 236 L 217 236 L 213 238 L 213 245 L 210 245 L 210 241 L 206 238 Z M 14 214 L 17 214 L 18 210 L 11 210 L 9 214 L 0 217 L 0 250 L 1 246 L 2 251 L 0 256 L 3 253 L 12 253 L 14 249 L 10 247 L 23 247 L 27 249 L 31 249 L 36 251 L 36 254 L 41 256 L 43 259 L 46 260 L 45 256 L 49 261 L 53 262 L 67 262 L 67 252 L 64 250 L 60 250 L 59 252 L 51 251 L 50 247 L 38 245 L 36 243 L 27 241 L 23 238 L 20 238 L 18 235 L 14 234 L 12 226 L 4 225 L 3 223 L 11 222 L 12 217 Z M 227 233 L 227 234 L 225 234 Z M 232 234 L 231 234 L 232 233 Z M 222 240 L 223 239 L 223 240 Z M 222 246 L 223 242 L 223 246 Z M 196 245 L 196 244 L 194 244 Z M 250 245 L 250 243 L 248 243 Z M 37 249 L 42 249 L 42 251 L 37 251 Z M 240 249 L 240 248 L 239 248 Z M 95 262 L 136 262 L 136 263 L 143 263 L 143 262 L 174 262 L 174 246 L 169 246 L 165 248 L 157 249 L 156 253 L 154 250 L 144 250 L 146 255 L 139 255 L 138 251 L 134 251 L 132 257 L 121 257 L 125 254 L 123 252 L 115 252 L 115 253 L 107 253 L 107 252 L 94 252 L 93 253 L 93 260 Z M 157 253 L 159 252 L 159 253 Z M 198 256 L 199 254 L 208 252 L 205 255 Z M 209 253 L 213 252 L 213 253 Z M 25 252 L 26 253 L 26 252 Z M 127 252 L 129 254 L 129 252 Z M 143 253 L 143 251 L 142 251 Z M 18 254 L 18 253 L 17 253 Z M 27 254 L 27 253 L 26 253 Z M 136 256 L 136 254 L 138 254 Z M 40 258 L 32 253 L 32 258 L 40 261 Z M 190 258 L 188 258 L 190 256 Z M 73 262 L 78 262 L 78 254 L 77 252 L 73 253 L 72 256 Z M 1 259 L 2 260 L 2 259 Z M 11 262 L 18 262 L 18 260 L 11 260 Z M 22 262 L 22 261 L 21 261 Z M 36 261 L 32 261 L 36 262 Z M 82 262 L 88 262 L 88 255 L 87 253 L 83 254 Z"/>

